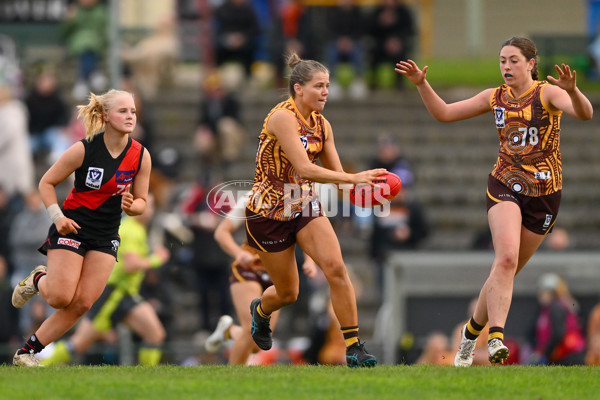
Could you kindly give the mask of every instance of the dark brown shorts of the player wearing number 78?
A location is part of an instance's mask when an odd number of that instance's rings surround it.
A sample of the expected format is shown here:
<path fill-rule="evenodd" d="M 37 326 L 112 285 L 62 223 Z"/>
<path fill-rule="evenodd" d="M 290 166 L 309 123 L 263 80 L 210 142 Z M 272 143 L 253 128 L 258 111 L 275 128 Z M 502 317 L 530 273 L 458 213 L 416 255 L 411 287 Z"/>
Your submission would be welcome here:
<path fill-rule="evenodd" d="M 510 190 L 506 185 L 494 178 L 488 177 L 487 209 L 503 201 L 512 201 L 521 209 L 523 226 L 533 233 L 545 235 L 552 232 L 562 191 L 546 196 L 530 197 Z"/>

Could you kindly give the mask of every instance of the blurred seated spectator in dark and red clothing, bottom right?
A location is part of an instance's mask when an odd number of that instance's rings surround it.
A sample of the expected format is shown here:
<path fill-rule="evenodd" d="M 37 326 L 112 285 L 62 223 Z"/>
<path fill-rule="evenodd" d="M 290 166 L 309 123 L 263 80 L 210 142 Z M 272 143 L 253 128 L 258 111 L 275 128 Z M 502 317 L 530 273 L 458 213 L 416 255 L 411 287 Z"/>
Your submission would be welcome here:
<path fill-rule="evenodd" d="M 577 302 L 567 283 L 547 273 L 538 282 L 540 312 L 535 325 L 532 364 L 582 365 L 585 336 L 577 316 Z"/>

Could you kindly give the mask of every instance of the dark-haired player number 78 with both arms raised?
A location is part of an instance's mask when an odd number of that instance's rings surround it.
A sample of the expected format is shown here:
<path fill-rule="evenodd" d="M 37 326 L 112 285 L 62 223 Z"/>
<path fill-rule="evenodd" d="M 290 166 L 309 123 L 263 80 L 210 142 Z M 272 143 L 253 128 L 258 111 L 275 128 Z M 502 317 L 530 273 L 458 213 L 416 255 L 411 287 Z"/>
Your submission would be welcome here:
<path fill-rule="evenodd" d="M 414 83 L 431 115 L 441 122 L 460 121 L 491 113 L 500 138 L 500 152 L 488 178 L 488 222 L 494 245 L 494 263 L 465 324 L 454 359 L 470 366 L 479 333 L 489 324 L 488 352 L 493 364 L 509 355 L 504 345 L 515 275 L 525 266 L 556 221 L 562 191 L 560 117 L 592 118 L 590 101 L 576 85 L 568 65 L 556 65 L 558 79 L 538 80 L 535 44 L 513 37 L 502 44 L 500 71 L 505 84 L 486 89 L 462 101 L 447 104 L 412 61 L 400 61 L 396 72 Z"/>

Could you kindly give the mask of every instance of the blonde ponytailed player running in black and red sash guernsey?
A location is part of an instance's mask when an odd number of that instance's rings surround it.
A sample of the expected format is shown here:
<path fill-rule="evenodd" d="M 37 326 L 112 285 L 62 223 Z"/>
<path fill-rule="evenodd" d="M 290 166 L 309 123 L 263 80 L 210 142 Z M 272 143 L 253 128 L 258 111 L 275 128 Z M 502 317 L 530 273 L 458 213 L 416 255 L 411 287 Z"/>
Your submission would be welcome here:
<path fill-rule="evenodd" d="M 133 95 L 120 90 L 91 94 L 78 108 L 86 138 L 67 149 L 39 184 L 53 222 L 39 249 L 48 266 L 36 267 L 12 297 L 20 308 L 39 292 L 56 311 L 17 350 L 14 365 L 39 366 L 35 354 L 90 309 L 115 265 L 122 212 L 134 216 L 146 208 L 151 160 L 130 137 L 136 126 Z M 74 187 L 61 209 L 56 186 L 73 173 Z"/>

